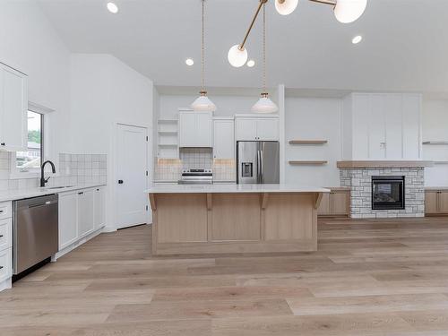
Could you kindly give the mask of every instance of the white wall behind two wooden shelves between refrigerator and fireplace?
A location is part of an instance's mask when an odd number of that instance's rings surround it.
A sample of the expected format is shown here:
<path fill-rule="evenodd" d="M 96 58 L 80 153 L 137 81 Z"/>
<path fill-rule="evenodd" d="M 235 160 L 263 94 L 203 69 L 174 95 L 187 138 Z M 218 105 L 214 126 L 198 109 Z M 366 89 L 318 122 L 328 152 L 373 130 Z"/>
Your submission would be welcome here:
<path fill-rule="evenodd" d="M 286 183 L 338 186 L 341 157 L 341 99 L 287 98 L 285 101 L 286 161 L 328 160 L 323 166 L 286 163 Z M 290 140 L 328 140 L 323 145 L 290 145 Z"/>

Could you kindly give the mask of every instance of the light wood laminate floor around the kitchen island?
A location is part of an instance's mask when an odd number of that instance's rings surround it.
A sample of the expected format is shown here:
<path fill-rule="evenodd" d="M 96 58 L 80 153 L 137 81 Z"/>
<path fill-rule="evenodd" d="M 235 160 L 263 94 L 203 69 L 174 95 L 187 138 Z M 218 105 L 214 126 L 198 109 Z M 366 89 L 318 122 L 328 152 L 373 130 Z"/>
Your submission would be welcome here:
<path fill-rule="evenodd" d="M 0 293 L 0 335 L 448 335 L 448 218 L 320 220 L 319 251 L 151 256 L 102 234 Z"/>

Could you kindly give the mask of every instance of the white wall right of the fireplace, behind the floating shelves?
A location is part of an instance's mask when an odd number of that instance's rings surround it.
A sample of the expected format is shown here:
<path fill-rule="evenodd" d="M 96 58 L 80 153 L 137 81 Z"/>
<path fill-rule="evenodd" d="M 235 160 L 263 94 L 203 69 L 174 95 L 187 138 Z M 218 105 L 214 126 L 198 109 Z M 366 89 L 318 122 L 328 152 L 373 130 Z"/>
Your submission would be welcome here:
<path fill-rule="evenodd" d="M 424 142 L 448 142 L 448 100 L 423 101 Z M 425 169 L 425 185 L 448 186 L 448 145 L 424 145 L 423 158 L 447 163 Z"/>

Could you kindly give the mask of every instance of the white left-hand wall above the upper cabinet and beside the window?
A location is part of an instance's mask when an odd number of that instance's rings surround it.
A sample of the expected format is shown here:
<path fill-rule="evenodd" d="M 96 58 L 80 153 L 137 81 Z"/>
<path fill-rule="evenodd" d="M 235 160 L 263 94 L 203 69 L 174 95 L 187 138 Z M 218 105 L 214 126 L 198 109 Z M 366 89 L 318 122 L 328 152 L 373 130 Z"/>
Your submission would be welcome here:
<path fill-rule="evenodd" d="M 54 109 L 50 117 L 51 159 L 67 151 L 70 136 L 59 125 L 70 124 L 70 52 L 39 6 L 0 1 L 0 62 L 29 76 L 29 99 Z"/>

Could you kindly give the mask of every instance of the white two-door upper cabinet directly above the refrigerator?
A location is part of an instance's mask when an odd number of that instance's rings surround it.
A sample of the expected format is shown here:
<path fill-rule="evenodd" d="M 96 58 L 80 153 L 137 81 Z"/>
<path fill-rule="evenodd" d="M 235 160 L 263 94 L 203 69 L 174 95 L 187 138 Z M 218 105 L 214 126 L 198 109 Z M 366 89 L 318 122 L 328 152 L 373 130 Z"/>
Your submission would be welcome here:
<path fill-rule="evenodd" d="M 236 141 L 278 141 L 278 116 L 237 116 Z"/>

